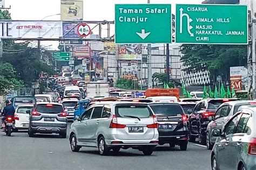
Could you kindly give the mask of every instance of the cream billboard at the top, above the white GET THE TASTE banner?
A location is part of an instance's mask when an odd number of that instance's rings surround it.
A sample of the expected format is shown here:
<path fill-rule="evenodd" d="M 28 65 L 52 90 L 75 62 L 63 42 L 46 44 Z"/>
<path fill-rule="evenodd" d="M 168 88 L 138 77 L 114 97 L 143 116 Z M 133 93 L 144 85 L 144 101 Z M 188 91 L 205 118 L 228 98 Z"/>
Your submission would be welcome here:
<path fill-rule="evenodd" d="M 61 20 L 83 20 L 83 0 L 61 0 Z"/>

